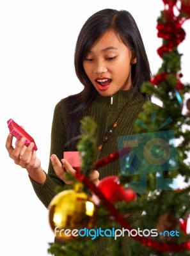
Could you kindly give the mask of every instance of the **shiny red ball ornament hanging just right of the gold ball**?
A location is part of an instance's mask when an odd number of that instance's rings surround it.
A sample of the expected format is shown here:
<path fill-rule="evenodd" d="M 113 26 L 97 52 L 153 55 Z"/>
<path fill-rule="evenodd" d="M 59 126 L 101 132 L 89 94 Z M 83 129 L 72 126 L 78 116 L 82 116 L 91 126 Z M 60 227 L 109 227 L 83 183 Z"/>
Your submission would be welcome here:
<path fill-rule="evenodd" d="M 131 189 L 124 189 L 117 176 L 108 176 L 100 180 L 97 186 L 107 200 L 115 204 L 116 202 L 129 202 L 136 199 L 136 193 Z"/>

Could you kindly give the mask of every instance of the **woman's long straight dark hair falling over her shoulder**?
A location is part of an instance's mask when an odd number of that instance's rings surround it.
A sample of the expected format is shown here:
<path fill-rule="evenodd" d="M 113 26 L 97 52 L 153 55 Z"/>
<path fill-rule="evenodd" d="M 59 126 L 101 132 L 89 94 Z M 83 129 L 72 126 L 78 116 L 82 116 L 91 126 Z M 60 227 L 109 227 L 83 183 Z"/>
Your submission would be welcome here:
<path fill-rule="evenodd" d="M 143 82 L 150 80 L 150 66 L 145 47 L 138 26 L 131 13 L 125 10 L 105 9 L 93 14 L 84 23 L 75 45 L 75 73 L 79 81 L 84 85 L 84 89 L 82 92 L 67 98 L 67 123 L 69 127 L 67 140 L 71 141 L 68 144 L 68 150 L 76 149 L 77 141 L 72 141 L 72 138 L 79 135 L 79 121 L 83 117 L 86 108 L 98 93 L 84 72 L 83 61 L 92 45 L 108 30 L 115 31 L 123 44 L 127 45 L 136 56 L 136 64 L 133 64 L 131 68 L 134 91 L 139 90 Z M 148 95 L 146 97 L 148 98 Z"/>

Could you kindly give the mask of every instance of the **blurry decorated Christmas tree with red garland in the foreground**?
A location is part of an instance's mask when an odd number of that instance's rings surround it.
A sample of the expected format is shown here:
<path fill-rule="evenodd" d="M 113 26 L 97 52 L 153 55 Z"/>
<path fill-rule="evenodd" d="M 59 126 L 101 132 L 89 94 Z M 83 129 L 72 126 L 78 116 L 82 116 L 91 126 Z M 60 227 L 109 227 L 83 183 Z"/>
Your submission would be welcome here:
<path fill-rule="evenodd" d="M 64 186 L 52 200 L 49 218 L 53 230 L 61 223 L 62 229 L 81 229 L 83 232 L 81 237 L 76 231 L 65 236 L 59 229 L 56 236 L 65 243 L 51 244 L 49 253 L 89 256 L 104 230 L 107 246 L 102 255 L 190 255 L 190 237 L 186 232 L 190 186 L 178 189 L 175 181 L 178 175 L 186 182 L 190 177 L 190 99 L 185 99 L 190 86 L 180 81 L 182 54 L 177 49 L 186 36 L 182 24 L 190 19 L 190 1 L 163 2 L 164 10 L 157 20 L 158 36 L 162 38 L 162 46 L 157 52 L 162 65 L 152 80 L 142 86 L 143 92 L 161 100 L 162 107 L 155 106 L 152 111 L 152 104 L 146 102 L 143 108 L 150 116 L 145 112 L 139 115 L 136 122 L 138 136 L 131 138 L 138 140 L 139 148 L 143 150 L 123 148 L 120 145 L 123 141 L 129 142 L 129 138 L 122 136 L 118 138 L 118 152 L 95 163 L 97 145 L 93 134 L 96 125 L 88 117 L 81 121 L 83 131 L 78 150 L 82 166 L 75 177 L 70 177 L 72 187 Z M 118 177 L 104 178 L 98 186 L 90 182 L 91 170 L 98 170 L 119 157 L 122 172 Z M 138 163 L 135 166 L 134 157 Z M 148 193 L 148 196 L 140 197 L 140 193 Z M 85 228 L 93 232 L 87 234 Z M 122 236 L 122 228 L 130 236 L 127 252 L 121 249 L 122 240 L 117 239 Z M 115 231 L 115 236 L 111 230 Z"/>

